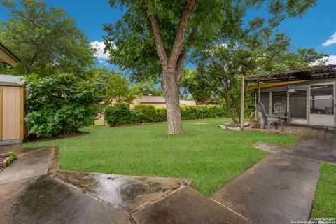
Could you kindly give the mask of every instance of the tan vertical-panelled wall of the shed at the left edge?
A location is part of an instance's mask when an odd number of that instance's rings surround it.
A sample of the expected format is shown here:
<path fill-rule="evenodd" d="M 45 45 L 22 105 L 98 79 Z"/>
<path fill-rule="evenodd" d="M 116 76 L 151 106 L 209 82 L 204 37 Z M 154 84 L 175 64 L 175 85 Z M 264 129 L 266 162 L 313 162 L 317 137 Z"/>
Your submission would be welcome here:
<path fill-rule="evenodd" d="M 22 86 L 0 85 L 0 140 L 8 141 L 24 137 L 24 127 L 21 122 L 24 116 L 24 88 Z"/>

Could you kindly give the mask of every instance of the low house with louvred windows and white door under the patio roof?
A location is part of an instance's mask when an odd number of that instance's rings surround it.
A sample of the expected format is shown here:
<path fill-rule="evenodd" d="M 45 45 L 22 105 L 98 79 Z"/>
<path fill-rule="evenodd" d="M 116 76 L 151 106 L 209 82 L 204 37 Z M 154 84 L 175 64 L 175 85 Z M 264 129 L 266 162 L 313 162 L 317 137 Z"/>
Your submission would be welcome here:
<path fill-rule="evenodd" d="M 290 123 L 336 126 L 336 65 L 261 74 L 247 80 L 260 83 L 260 102 L 266 113 L 274 113 L 273 105 L 281 102 L 290 112 Z M 255 91 L 258 102 L 258 87 L 249 89 Z"/>

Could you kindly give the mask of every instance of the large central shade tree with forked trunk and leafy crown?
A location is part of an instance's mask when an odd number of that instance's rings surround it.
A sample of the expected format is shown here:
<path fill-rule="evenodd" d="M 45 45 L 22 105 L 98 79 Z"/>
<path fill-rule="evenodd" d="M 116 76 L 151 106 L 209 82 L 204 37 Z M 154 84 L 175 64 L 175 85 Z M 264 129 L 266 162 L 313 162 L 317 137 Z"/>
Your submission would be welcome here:
<path fill-rule="evenodd" d="M 276 26 L 286 17 L 300 16 L 316 0 L 111 0 L 125 7 L 123 17 L 107 31 L 110 62 L 132 70 L 134 78 L 161 80 L 167 100 L 168 134 L 182 134 L 179 83 L 190 50 L 207 48 L 223 29 L 226 36 L 241 27 L 246 8 L 266 3 Z"/>

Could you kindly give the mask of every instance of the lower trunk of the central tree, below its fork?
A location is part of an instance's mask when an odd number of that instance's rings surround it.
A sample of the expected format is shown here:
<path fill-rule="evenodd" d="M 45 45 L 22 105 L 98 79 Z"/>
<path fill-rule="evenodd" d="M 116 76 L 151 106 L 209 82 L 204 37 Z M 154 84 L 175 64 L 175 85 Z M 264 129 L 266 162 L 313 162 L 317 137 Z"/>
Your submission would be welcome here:
<path fill-rule="evenodd" d="M 175 77 L 174 72 L 164 71 L 162 90 L 166 97 L 168 134 L 183 134 L 179 82 Z"/>

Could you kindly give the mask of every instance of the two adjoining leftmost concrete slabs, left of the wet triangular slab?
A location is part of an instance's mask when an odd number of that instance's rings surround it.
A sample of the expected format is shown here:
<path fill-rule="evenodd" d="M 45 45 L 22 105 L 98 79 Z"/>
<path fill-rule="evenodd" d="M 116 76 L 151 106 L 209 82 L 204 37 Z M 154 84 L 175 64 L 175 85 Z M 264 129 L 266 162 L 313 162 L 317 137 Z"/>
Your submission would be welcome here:
<path fill-rule="evenodd" d="M 31 151 L 0 173 L 1 223 L 131 223 L 122 211 L 50 177 L 50 153 Z"/>

